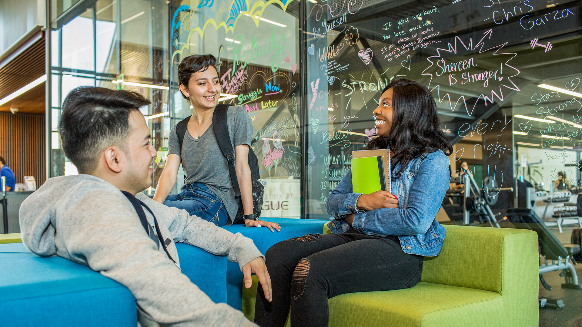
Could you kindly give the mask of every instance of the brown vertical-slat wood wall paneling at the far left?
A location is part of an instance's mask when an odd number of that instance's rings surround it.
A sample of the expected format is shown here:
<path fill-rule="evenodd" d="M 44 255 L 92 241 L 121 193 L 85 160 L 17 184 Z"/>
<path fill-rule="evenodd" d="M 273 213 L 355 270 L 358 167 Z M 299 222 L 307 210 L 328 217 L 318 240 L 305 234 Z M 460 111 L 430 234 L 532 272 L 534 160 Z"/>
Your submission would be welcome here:
<path fill-rule="evenodd" d="M 0 156 L 13 170 L 16 183 L 34 176 L 40 187 L 45 175 L 44 115 L 0 112 Z"/>

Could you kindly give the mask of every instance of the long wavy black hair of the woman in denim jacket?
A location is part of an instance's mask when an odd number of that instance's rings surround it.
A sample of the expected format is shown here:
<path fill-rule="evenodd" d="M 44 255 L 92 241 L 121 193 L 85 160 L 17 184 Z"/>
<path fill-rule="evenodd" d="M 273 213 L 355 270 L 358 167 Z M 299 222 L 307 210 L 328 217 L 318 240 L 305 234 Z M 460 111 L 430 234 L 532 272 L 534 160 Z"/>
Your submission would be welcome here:
<path fill-rule="evenodd" d="M 442 131 L 437 103 L 427 87 L 407 79 L 395 79 L 382 93 L 392 88 L 392 128 L 390 135 L 372 136 L 365 150 L 390 146 L 394 156 L 392 167 L 400 162 L 400 170 L 411 159 L 423 153 L 442 150 L 453 153 L 450 141 Z"/>

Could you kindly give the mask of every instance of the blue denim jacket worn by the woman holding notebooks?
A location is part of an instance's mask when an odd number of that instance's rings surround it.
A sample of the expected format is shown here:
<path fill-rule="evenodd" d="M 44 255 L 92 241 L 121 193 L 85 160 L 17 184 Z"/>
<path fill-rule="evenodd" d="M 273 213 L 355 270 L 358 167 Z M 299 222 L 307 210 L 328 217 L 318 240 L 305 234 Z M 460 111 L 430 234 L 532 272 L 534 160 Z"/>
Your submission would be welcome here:
<path fill-rule="evenodd" d="M 400 163 L 392 170 L 392 193 L 398 208 L 381 208 L 356 214 L 361 193 L 352 192 L 352 171 L 348 170 L 325 203 L 335 217 L 328 224 L 332 233 L 344 233 L 350 226 L 346 215 L 354 216 L 353 228 L 376 236 L 398 236 L 402 251 L 432 257 L 441 252 L 445 229 L 435 217 L 449 189 L 449 158 L 441 151 L 411 159 L 401 173 Z"/>

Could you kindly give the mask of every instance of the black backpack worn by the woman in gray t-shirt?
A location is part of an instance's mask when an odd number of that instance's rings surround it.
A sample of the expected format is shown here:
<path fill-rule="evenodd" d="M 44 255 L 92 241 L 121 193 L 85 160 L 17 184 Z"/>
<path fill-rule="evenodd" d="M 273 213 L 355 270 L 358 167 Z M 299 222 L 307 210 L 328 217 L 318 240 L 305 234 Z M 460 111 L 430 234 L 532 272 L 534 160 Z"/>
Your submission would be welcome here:
<path fill-rule="evenodd" d="M 222 155 L 228 162 L 230 180 L 232 180 L 235 197 L 239 201 L 239 211 L 237 212 L 235 219 L 233 219 L 233 223 L 244 223 L 243 204 L 240 199 L 239 181 L 236 177 L 235 170 L 235 150 L 232 148 L 232 143 L 230 143 L 228 122 L 226 120 L 226 113 L 228 112 L 229 106 L 229 104 L 219 104 L 214 108 L 214 114 L 212 115 L 212 129 L 214 130 L 214 136 L 217 138 L 218 146 L 220 147 Z M 188 130 L 188 121 L 190 120 L 190 117 L 191 116 L 184 118 L 178 123 L 178 125 L 176 125 L 176 134 L 178 135 L 178 141 L 180 143 L 180 153 L 182 152 L 182 143 L 184 142 L 184 136 Z M 258 173 L 257 155 L 255 155 L 252 148 L 249 148 L 249 167 L 251 169 L 251 180 L 253 185 L 253 213 L 256 218 L 259 218 L 261 216 L 262 197 L 265 186 L 261 183 L 261 176 Z"/>

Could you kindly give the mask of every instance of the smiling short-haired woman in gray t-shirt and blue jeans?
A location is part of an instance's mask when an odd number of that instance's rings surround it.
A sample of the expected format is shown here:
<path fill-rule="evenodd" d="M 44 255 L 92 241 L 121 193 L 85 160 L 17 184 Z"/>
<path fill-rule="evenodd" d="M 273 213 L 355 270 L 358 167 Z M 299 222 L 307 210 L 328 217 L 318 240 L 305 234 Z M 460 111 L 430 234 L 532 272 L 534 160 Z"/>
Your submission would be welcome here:
<path fill-rule="evenodd" d="M 212 55 L 191 55 L 178 66 L 180 91 L 191 105 L 193 114 L 180 146 L 176 126 L 172 127 L 168 144 L 168 159 L 159 178 L 154 200 L 168 207 L 186 209 L 190 215 L 215 223 L 230 225 L 237 213 L 244 215 L 246 226 L 265 226 L 279 231 L 279 224 L 255 221 L 251 170 L 248 157 L 253 125 L 242 106 L 230 106 L 226 114 L 230 141 L 235 149 L 235 170 L 240 187 L 240 201 L 235 198 L 228 162 L 223 157 L 212 125 L 214 108 L 218 104 L 221 86 Z M 179 194 L 169 194 L 176 184 L 182 163 L 185 185 Z M 242 203 L 242 208 L 239 204 Z M 239 214 L 240 216 L 240 214 Z"/>

